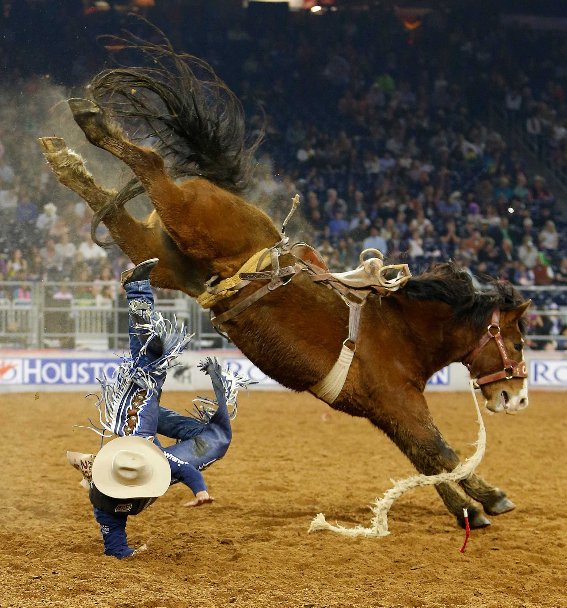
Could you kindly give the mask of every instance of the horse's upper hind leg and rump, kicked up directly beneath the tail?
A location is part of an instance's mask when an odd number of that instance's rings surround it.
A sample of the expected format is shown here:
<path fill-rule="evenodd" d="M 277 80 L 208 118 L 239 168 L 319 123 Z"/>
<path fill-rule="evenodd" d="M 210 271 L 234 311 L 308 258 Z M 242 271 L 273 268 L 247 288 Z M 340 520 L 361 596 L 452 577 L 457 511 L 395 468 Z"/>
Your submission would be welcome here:
<path fill-rule="evenodd" d="M 162 157 L 155 150 L 128 141 L 103 108 L 86 99 L 69 99 L 68 103 L 89 142 L 125 162 L 142 182 L 164 230 L 178 249 L 193 259 L 214 260 L 209 277 L 230 276 L 252 253 L 277 241 L 279 233 L 273 223 L 256 207 L 206 179 L 175 184 L 165 171 Z M 211 219 L 215 216 L 225 216 L 230 222 L 215 223 Z M 234 234 L 238 235 L 236 241 Z"/>

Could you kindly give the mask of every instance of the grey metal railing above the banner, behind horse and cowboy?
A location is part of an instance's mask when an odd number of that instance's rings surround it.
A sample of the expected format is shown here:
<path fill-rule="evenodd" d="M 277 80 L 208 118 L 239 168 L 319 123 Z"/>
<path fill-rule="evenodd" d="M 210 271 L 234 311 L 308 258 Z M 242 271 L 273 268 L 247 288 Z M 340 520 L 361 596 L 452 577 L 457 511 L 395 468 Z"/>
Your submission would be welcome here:
<path fill-rule="evenodd" d="M 567 286 L 517 286 L 526 297 L 549 294 L 565 306 L 535 308 L 530 316 L 559 317 L 567 325 Z M 210 324 L 209 311 L 197 302 L 173 292 L 154 289 L 156 309 L 166 318 L 175 316 L 195 337 L 190 348 L 228 348 Z M 564 298 L 558 298 L 565 295 Z M 535 296 L 537 297 L 537 295 Z M 555 324 L 557 325 L 557 323 Z M 530 339 L 567 344 L 567 336 L 528 334 Z M 0 348 L 85 348 L 128 350 L 128 307 L 119 283 L 0 282 Z"/>

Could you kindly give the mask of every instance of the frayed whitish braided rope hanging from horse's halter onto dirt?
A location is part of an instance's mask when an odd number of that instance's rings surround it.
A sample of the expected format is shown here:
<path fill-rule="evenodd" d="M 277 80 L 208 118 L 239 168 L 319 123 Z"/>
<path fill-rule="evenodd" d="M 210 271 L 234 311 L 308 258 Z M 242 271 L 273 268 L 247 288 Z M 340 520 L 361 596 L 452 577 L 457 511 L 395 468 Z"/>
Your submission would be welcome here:
<path fill-rule="evenodd" d="M 381 499 L 376 499 L 373 505 L 370 506 L 370 510 L 374 513 L 374 517 L 370 520 L 371 525 L 369 528 L 364 528 L 362 525 L 358 525 L 354 528 L 345 528 L 338 523 L 336 526 L 333 526 L 330 523 L 327 523 L 323 513 L 319 513 L 311 522 L 309 532 L 332 530 L 333 532 L 351 538 L 356 536 L 364 536 L 366 538 L 382 538 L 388 536 L 390 533 L 388 530 L 388 511 L 395 499 L 417 486 L 436 486 L 439 483 L 459 482 L 462 479 L 470 477 L 470 475 L 475 472 L 476 467 L 480 464 L 486 448 L 486 431 L 484 429 L 484 422 L 482 421 L 481 409 L 476 399 L 474 380 L 470 381 L 470 389 L 473 393 L 473 399 L 475 400 L 478 421 L 478 439 L 474 444 L 476 445 L 475 454 L 470 458 L 467 458 L 464 463 L 457 465 L 453 471 L 448 473 L 440 473 L 439 475 L 414 475 L 414 477 L 408 477 L 398 482 L 395 482 L 392 479 L 391 482 L 394 484 L 394 487 L 386 491 Z"/>

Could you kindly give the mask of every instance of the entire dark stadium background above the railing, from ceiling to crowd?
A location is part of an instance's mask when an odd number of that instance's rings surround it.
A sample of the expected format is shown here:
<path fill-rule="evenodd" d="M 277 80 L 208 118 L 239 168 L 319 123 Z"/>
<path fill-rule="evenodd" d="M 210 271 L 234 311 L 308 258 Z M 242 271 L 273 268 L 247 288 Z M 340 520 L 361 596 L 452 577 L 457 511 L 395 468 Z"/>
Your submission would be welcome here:
<path fill-rule="evenodd" d="M 251 135 L 265 115 L 249 198 L 280 221 L 298 192 L 301 235 L 333 270 L 370 246 L 407 251 L 416 272 L 451 258 L 479 288 L 483 274 L 520 286 L 535 304 L 528 345 L 565 350 L 565 2 L 321 5 L 4 0 L 1 302 L 41 297 L 41 336 L 63 347 L 70 307 L 114 306 L 128 260 L 91 243 L 89 211 L 50 175 L 37 137 L 52 134 L 41 129 L 55 102 L 110 64 L 116 44 L 100 35 L 156 36 L 134 11 L 212 64 Z M 6 318 L 2 343 L 32 344 L 26 323 Z"/>

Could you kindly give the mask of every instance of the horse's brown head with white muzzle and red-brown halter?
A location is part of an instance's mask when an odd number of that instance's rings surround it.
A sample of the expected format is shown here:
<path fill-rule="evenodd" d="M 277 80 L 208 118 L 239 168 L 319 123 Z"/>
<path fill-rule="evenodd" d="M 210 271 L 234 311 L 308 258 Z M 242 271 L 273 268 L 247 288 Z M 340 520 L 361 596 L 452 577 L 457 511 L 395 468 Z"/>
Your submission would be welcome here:
<path fill-rule="evenodd" d="M 527 407 L 527 366 L 520 319 L 531 301 L 507 311 L 495 310 L 487 332 L 464 363 L 478 379 L 486 407 L 514 414 Z"/>

